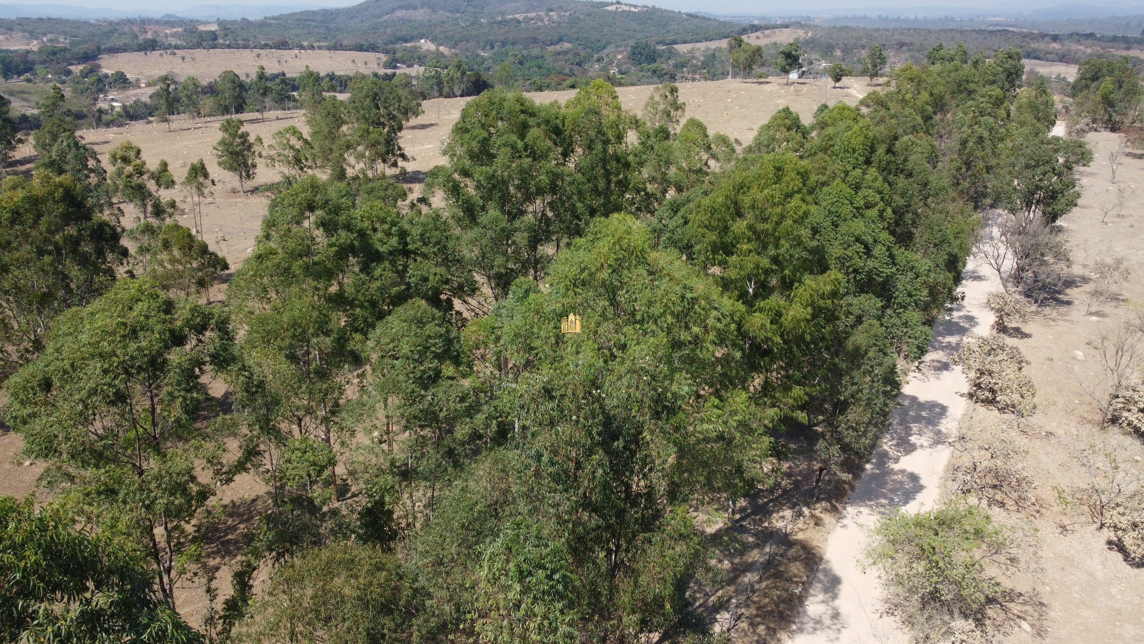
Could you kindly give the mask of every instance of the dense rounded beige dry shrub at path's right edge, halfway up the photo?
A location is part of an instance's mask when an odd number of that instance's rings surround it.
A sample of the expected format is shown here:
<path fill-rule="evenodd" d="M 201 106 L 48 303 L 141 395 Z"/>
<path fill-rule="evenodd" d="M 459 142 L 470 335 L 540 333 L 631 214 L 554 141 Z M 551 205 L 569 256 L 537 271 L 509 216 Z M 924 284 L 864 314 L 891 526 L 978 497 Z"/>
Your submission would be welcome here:
<path fill-rule="evenodd" d="M 1022 369 L 1028 364 L 1020 349 L 1001 335 L 966 334 L 961 351 L 953 357 L 969 377 L 974 400 L 1000 412 L 1028 415 L 1035 408 L 1036 388 Z"/>

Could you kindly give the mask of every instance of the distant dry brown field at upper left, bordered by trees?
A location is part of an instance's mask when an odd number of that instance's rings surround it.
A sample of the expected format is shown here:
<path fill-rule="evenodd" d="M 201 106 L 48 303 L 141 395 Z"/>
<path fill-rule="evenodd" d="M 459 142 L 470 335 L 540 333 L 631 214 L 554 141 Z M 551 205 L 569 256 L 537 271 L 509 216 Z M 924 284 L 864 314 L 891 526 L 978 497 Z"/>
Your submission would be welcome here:
<path fill-rule="evenodd" d="M 254 75 L 259 65 L 267 72 L 286 72 L 288 75 L 302 73 L 307 65 L 318 73 L 381 71 L 382 54 L 368 51 L 327 51 L 324 49 L 175 49 L 175 54 L 162 51 L 132 51 L 127 54 L 104 54 L 98 63 L 104 71 L 121 71 L 133 79 L 153 80 L 165 73 L 174 73 L 182 80 L 193 75 L 201 81 L 217 78 L 231 70 L 243 78 Z M 77 65 L 74 69 L 79 69 Z"/>

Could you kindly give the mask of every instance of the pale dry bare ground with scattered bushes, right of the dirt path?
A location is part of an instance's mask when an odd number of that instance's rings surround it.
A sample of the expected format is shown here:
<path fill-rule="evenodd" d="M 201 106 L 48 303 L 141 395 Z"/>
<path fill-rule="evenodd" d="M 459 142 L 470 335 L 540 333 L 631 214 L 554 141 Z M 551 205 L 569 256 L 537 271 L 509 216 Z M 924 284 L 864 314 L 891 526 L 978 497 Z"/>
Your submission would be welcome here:
<path fill-rule="evenodd" d="M 1118 135 L 1094 133 L 1086 140 L 1096 159 L 1081 172 L 1080 205 L 1063 220 L 1077 279 L 1042 316 L 1022 325 L 1010 337 L 1032 363 L 1025 372 L 1036 384 L 1038 410 L 1011 436 L 1028 451 L 1038 507 L 998 514 L 1036 531 L 1036 543 L 1026 551 L 1031 565 L 1012 581 L 1018 589 L 1035 590 L 1044 614 L 1040 623 L 1031 623 L 1032 634 L 1017 629 L 1008 642 L 1144 641 L 1144 569 L 1128 565 L 1107 543 L 1107 530 L 1097 532 L 1082 508 L 1063 507 L 1052 490 L 1086 482 L 1075 456 L 1089 445 L 1118 454 L 1129 474 L 1139 475 L 1144 460 L 1141 437 L 1098 429 L 1098 413 L 1088 395 L 1094 389 L 1099 393 L 1102 376 L 1096 349 L 1088 343 L 1129 315 L 1128 301 L 1144 301 L 1144 220 L 1139 210 L 1144 159 L 1126 156 L 1112 183 L 1107 154 L 1118 146 Z M 1098 259 L 1117 257 L 1123 259 L 1131 275 L 1117 297 L 1090 308 L 1093 264 Z M 991 412 L 978 414 L 987 419 Z"/>

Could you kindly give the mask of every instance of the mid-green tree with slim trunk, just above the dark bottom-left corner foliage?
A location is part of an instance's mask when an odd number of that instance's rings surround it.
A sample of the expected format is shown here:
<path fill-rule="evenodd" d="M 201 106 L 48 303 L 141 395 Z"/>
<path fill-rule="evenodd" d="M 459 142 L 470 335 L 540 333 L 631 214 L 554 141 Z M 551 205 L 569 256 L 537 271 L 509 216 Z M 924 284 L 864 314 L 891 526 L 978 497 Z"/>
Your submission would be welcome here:
<path fill-rule="evenodd" d="M 193 552 L 191 522 L 215 491 L 196 460 L 215 466 L 215 480 L 228 476 L 222 444 L 196 418 L 209 404 L 199 379 L 227 366 L 230 344 L 217 308 L 121 279 L 59 316 L 40 356 L 5 384 L 3 420 L 27 456 L 53 466 L 55 487 L 88 520 L 135 539 L 172 609 Z"/>

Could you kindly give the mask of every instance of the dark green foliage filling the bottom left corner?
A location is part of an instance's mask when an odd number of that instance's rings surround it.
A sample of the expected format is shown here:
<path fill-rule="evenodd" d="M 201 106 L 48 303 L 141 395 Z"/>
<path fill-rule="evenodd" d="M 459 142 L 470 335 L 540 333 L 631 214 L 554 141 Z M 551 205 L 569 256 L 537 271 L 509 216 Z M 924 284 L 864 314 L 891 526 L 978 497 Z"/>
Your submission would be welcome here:
<path fill-rule="evenodd" d="M 0 496 L 0 637 L 6 642 L 185 644 L 199 634 L 159 601 L 140 551 L 76 527 L 58 506 Z"/>

